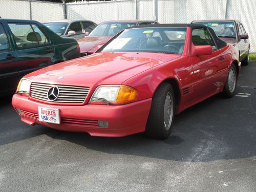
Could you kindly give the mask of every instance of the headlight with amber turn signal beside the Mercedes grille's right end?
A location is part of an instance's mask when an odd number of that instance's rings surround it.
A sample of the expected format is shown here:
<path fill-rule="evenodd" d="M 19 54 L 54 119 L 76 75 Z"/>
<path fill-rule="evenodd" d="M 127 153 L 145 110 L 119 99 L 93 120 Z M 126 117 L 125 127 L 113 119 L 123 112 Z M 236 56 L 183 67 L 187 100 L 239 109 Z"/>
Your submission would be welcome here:
<path fill-rule="evenodd" d="M 132 102 L 137 98 L 137 90 L 129 86 L 99 86 L 91 101 L 103 102 Z"/>

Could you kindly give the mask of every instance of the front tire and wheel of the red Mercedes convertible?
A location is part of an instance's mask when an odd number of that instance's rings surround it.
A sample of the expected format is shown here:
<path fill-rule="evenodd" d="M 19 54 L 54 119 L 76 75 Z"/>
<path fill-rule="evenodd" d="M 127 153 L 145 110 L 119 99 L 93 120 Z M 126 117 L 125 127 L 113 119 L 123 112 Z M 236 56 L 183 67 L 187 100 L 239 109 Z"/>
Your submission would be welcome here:
<path fill-rule="evenodd" d="M 146 123 L 145 135 L 151 138 L 165 139 L 172 131 L 175 113 L 173 87 L 164 82 L 152 98 L 150 115 Z"/>

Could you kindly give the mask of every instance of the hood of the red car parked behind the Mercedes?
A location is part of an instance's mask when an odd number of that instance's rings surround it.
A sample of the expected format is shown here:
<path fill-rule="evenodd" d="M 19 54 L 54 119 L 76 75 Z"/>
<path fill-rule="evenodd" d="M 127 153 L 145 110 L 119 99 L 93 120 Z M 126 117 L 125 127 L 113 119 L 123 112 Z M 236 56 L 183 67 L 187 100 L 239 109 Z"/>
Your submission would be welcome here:
<path fill-rule="evenodd" d="M 102 45 L 105 44 L 106 41 L 111 39 L 110 36 L 102 36 L 102 37 L 90 37 L 86 36 L 80 39 L 77 39 L 77 42 L 80 46 L 81 52 L 89 52 L 94 53 L 97 51 Z"/>

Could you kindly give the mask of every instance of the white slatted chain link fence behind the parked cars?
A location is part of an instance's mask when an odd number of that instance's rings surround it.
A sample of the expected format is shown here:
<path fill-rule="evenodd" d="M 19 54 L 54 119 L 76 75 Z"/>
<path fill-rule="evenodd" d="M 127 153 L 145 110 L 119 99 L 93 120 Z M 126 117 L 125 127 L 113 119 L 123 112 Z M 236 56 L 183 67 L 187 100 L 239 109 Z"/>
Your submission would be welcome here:
<path fill-rule="evenodd" d="M 63 9 L 64 8 L 64 9 Z M 256 52 L 256 0 L 158 0 L 159 23 L 190 23 L 197 19 L 238 19 L 249 34 L 251 52 Z M 65 13 L 67 12 L 67 15 Z M 153 0 L 49 3 L 1 0 L 3 18 L 34 19 L 39 22 L 69 19 L 154 20 Z"/>

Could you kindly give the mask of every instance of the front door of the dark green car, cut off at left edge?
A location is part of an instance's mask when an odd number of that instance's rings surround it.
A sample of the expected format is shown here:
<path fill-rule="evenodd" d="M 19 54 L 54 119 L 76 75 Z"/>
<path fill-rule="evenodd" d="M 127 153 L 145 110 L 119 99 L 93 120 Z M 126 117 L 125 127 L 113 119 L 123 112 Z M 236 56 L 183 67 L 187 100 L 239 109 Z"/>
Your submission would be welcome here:
<path fill-rule="evenodd" d="M 13 91 L 19 80 L 19 65 L 10 36 L 0 23 L 0 96 Z"/>

